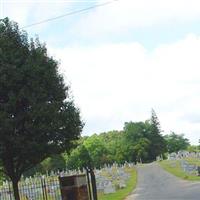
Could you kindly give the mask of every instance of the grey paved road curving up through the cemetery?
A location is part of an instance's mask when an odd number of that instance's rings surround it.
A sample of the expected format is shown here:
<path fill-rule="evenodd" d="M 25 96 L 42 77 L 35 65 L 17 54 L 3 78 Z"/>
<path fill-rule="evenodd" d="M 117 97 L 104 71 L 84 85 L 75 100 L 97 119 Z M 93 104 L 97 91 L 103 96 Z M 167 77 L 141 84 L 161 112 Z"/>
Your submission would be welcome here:
<path fill-rule="evenodd" d="M 200 200 L 200 182 L 184 181 L 158 164 L 138 167 L 138 183 L 126 200 Z"/>

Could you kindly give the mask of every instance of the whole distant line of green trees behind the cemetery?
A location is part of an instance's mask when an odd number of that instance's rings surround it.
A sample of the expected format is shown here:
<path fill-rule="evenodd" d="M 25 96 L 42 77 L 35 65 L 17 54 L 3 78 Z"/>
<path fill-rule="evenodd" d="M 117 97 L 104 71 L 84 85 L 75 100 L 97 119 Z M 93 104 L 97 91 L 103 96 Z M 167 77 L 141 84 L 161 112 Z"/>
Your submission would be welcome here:
<path fill-rule="evenodd" d="M 199 151 L 199 146 L 190 145 L 184 134 L 171 132 L 163 136 L 154 110 L 145 122 L 125 122 L 122 131 L 114 130 L 77 141 L 70 154 L 54 155 L 44 160 L 25 175 L 50 170 L 83 169 L 86 166 L 100 168 L 105 164 L 125 162 L 152 162 L 157 156 L 179 150 Z"/>

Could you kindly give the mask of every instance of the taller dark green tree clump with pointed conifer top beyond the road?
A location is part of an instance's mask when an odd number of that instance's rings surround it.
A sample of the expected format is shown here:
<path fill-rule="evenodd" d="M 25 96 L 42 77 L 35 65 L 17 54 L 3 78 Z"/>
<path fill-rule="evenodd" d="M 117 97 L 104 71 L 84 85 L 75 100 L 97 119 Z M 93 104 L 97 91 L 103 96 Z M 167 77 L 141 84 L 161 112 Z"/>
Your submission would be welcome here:
<path fill-rule="evenodd" d="M 164 154 L 166 145 L 161 135 L 160 124 L 155 111 L 145 122 L 126 122 L 125 137 L 131 161 L 149 162 Z"/>

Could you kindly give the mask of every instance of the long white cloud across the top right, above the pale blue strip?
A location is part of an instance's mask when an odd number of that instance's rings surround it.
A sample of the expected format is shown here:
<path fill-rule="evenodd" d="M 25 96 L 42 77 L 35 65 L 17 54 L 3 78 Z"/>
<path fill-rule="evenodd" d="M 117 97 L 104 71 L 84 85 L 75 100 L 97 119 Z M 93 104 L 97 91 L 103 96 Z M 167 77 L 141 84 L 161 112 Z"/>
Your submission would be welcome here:
<path fill-rule="evenodd" d="M 102 0 L 98 2 L 102 3 Z M 98 38 L 99 35 L 123 33 L 133 28 L 199 19 L 198 0 L 119 0 L 82 16 L 72 32 Z"/>

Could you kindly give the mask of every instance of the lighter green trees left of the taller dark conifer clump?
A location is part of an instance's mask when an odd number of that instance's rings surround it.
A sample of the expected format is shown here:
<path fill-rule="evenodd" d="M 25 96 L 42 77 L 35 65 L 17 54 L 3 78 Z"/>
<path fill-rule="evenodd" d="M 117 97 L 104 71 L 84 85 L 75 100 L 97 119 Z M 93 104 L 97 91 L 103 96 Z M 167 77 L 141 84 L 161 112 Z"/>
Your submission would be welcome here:
<path fill-rule="evenodd" d="M 70 169 L 82 169 L 84 166 L 100 168 L 104 164 L 122 164 L 128 160 L 123 131 L 110 131 L 82 138 L 79 146 L 66 158 L 67 168 Z"/>

